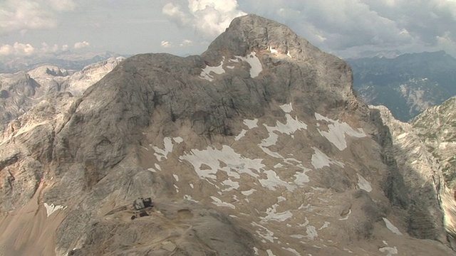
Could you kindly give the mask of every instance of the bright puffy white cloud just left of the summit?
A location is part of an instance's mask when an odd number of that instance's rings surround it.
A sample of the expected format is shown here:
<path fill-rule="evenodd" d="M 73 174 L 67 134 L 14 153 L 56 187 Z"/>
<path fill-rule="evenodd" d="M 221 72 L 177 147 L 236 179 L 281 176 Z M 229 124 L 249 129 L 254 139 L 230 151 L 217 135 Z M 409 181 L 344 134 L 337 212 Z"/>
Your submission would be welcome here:
<path fill-rule="evenodd" d="M 186 8 L 183 5 L 166 4 L 162 13 L 178 26 L 194 28 L 207 38 L 218 36 L 233 18 L 246 14 L 238 9 L 237 0 L 187 0 Z"/>

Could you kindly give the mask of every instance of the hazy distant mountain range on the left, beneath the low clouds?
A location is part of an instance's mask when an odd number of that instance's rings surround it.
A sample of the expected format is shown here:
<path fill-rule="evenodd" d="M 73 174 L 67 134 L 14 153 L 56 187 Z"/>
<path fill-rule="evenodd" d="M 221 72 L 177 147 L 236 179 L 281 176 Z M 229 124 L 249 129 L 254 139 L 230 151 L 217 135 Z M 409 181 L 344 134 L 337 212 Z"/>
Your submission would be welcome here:
<path fill-rule="evenodd" d="M 0 58 L 0 73 L 16 73 L 32 70 L 42 65 L 55 65 L 66 70 L 82 70 L 87 65 L 98 63 L 108 58 L 129 57 L 106 51 L 103 53 L 73 53 L 70 50 L 33 56 Z"/>

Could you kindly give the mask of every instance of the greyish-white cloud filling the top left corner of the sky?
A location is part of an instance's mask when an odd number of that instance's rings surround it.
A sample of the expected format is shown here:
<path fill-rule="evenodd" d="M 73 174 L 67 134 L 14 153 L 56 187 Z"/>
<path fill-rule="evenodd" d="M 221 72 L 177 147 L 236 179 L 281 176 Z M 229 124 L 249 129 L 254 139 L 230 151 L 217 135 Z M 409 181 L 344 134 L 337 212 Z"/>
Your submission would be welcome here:
<path fill-rule="evenodd" d="M 55 28 L 58 13 L 71 11 L 72 0 L 3 0 L 0 2 L 0 31 L 24 31 Z"/>

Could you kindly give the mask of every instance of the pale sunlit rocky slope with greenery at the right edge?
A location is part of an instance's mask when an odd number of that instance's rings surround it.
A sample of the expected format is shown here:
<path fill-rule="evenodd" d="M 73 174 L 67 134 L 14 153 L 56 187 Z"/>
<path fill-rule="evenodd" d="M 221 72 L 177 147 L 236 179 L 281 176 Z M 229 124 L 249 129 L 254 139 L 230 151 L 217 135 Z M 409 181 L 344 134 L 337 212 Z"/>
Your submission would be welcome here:
<path fill-rule="evenodd" d="M 417 180 L 418 174 L 425 181 L 415 188 L 415 193 L 426 196 L 430 191 L 438 191 L 445 228 L 453 238 L 456 236 L 455 102 L 452 97 L 425 110 L 411 124 L 394 119 L 383 106 L 373 107 L 380 110 L 383 123 L 392 134 L 393 157 L 404 177 Z M 419 206 L 423 208 L 424 204 Z"/>

